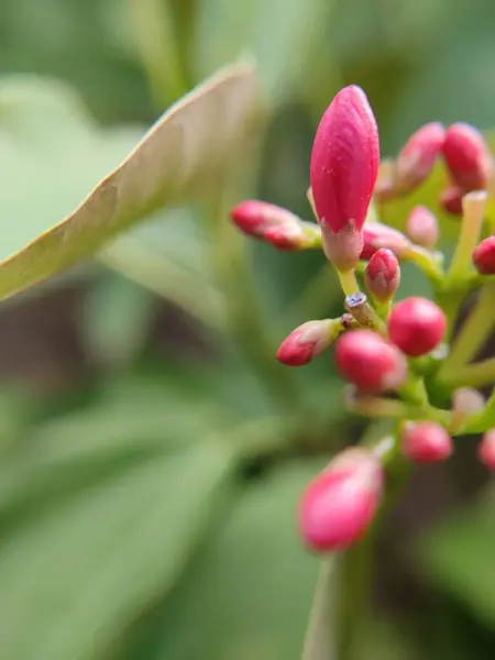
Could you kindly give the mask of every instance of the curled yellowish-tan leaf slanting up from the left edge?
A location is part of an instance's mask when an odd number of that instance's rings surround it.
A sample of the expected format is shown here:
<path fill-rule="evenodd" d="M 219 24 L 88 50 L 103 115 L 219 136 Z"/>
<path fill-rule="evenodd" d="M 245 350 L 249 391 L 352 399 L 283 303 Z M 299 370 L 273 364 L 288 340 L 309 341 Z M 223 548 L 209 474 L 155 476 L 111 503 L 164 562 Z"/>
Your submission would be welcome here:
<path fill-rule="evenodd" d="M 226 68 L 184 97 L 74 212 L 0 262 L 0 299 L 91 255 L 156 209 L 200 198 L 237 156 L 255 108 L 250 64 Z"/>

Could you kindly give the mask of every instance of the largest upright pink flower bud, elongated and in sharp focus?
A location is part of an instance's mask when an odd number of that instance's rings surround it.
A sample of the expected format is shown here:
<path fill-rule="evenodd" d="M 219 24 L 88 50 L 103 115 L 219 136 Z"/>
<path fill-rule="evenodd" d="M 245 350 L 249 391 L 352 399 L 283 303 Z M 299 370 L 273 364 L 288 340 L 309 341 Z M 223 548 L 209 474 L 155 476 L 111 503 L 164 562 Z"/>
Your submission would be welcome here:
<path fill-rule="evenodd" d="M 338 268 L 352 268 L 359 258 L 361 229 L 378 165 L 378 130 L 373 111 L 364 91 L 351 85 L 339 91 L 324 112 L 310 163 L 312 200 L 323 249 Z"/>

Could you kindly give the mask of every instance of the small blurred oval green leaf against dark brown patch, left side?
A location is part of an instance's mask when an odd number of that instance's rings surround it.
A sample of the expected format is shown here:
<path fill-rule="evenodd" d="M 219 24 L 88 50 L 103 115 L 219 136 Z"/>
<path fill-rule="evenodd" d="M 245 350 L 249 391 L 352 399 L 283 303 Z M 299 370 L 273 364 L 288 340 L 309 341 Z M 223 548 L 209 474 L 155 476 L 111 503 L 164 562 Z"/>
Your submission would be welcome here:
<path fill-rule="evenodd" d="M 108 273 L 86 294 L 82 341 L 98 363 L 120 366 L 143 348 L 155 298 L 133 282 Z"/>

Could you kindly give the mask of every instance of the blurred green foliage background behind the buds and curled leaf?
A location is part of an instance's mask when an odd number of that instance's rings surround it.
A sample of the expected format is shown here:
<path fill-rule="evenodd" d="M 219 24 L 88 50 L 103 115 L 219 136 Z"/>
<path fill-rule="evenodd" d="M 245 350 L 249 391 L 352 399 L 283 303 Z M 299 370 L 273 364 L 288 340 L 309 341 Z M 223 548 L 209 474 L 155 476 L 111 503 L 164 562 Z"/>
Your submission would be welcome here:
<path fill-rule="evenodd" d="M 492 0 L 1 0 L 4 248 L 240 56 L 266 121 L 229 199 L 308 217 L 312 135 L 341 86 L 367 92 L 384 155 L 426 121 L 493 128 L 494 34 Z M 0 309 L 6 660 L 300 658 L 318 561 L 297 498 L 362 422 L 328 358 L 294 373 L 274 351 L 341 299 L 322 255 L 248 243 L 220 216 L 167 209 Z M 405 270 L 400 295 L 425 290 Z M 473 457 L 466 440 L 414 475 L 388 516 L 363 660 L 494 657 L 493 492 Z"/>

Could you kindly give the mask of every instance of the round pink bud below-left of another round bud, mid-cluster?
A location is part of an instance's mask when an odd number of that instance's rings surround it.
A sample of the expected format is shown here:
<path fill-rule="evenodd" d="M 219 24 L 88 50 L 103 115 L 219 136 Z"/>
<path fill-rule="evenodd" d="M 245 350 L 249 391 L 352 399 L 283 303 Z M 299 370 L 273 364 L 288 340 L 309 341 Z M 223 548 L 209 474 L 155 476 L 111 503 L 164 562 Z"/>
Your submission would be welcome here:
<path fill-rule="evenodd" d="M 336 363 L 340 375 L 363 392 L 397 389 L 407 378 L 404 355 L 373 330 L 352 330 L 341 337 Z"/>

